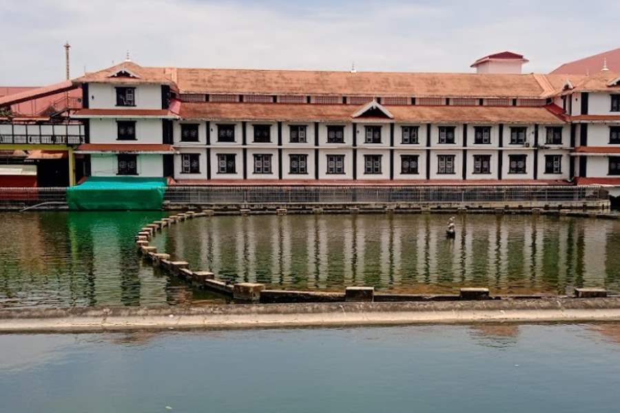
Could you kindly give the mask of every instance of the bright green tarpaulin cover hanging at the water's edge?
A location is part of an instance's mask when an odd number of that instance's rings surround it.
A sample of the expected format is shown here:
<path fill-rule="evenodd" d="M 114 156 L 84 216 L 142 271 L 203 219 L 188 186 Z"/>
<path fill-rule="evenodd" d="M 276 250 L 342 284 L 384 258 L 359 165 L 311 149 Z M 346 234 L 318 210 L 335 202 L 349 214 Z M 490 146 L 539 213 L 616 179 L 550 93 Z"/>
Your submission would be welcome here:
<path fill-rule="evenodd" d="M 154 210 L 161 209 L 166 178 L 92 176 L 67 189 L 69 209 Z"/>

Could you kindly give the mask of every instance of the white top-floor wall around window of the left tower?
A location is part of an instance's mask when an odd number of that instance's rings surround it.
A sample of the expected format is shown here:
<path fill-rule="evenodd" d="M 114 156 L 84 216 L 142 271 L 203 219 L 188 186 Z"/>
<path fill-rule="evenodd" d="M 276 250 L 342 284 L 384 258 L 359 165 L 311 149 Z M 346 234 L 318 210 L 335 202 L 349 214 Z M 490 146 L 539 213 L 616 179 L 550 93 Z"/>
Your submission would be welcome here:
<path fill-rule="evenodd" d="M 119 84 L 89 83 L 90 109 L 161 109 L 161 85 L 127 85 L 136 87 L 136 106 L 116 106 L 116 87 Z"/>

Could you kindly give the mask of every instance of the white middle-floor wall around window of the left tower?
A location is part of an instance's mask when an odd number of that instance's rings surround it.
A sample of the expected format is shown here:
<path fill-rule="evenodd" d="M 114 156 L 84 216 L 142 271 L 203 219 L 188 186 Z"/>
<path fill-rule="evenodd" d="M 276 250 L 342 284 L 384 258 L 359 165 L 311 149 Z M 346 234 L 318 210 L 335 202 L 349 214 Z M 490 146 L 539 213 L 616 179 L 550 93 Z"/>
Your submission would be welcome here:
<path fill-rule="evenodd" d="M 123 119 L 136 120 L 136 119 Z M 116 119 L 92 118 L 90 120 L 90 143 L 157 143 L 162 142 L 161 119 L 137 119 L 136 140 L 118 140 Z"/>

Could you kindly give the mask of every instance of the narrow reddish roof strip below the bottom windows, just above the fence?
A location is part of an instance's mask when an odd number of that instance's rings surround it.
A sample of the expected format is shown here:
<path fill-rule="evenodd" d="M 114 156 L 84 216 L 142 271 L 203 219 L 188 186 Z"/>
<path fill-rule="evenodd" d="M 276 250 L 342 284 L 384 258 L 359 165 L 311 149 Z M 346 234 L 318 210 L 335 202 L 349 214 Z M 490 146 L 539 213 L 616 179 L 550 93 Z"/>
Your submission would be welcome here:
<path fill-rule="evenodd" d="M 175 180 L 174 185 L 207 185 L 213 187 L 246 187 L 246 186 L 280 186 L 280 187 L 406 187 L 406 186 L 501 186 L 501 185 L 570 185 L 566 180 L 197 180 L 197 179 L 180 179 Z"/>

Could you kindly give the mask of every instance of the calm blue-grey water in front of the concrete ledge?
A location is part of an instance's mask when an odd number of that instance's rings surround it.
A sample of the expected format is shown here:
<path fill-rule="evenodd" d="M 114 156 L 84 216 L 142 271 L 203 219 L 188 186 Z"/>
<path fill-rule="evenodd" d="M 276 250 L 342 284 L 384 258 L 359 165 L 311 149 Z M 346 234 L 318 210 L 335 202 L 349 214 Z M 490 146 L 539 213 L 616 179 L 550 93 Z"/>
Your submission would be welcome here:
<path fill-rule="evenodd" d="M 0 335 L 2 412 L 610 413 L 620 326 Z"/>

